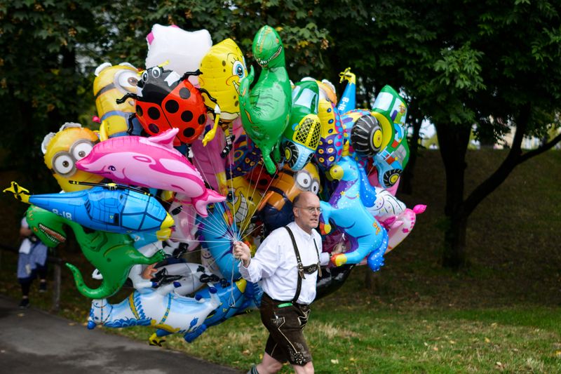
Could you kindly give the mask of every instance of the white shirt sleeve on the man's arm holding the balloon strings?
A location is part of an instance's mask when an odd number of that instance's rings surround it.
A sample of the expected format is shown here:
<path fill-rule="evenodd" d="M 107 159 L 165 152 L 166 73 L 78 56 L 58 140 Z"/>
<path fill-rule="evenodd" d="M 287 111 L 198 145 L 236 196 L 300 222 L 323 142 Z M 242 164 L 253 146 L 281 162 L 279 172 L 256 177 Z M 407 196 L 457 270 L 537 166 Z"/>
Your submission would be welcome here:
<path fill-rule="evenodd" d="M 243 279 L 255 283 L 262 278 L 269 278 L 273 275 L 280 264 L 280 260 L 278 240 L 271 234 L 259 246 L 255 257 L 251 258 L 250 265 L 244 267 L 243 263 L 240 262 L 238 269 Z"/>

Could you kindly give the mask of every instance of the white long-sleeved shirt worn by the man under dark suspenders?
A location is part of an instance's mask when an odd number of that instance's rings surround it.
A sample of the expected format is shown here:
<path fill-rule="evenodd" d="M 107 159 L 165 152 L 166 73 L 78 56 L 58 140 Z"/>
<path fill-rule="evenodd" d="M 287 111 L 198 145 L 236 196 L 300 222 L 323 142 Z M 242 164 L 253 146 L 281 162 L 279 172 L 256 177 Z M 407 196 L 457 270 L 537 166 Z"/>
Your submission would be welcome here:
<path fill-rule="evenodd" d="M 301 229 L 296 222 L 290 222 L 288 227 L 294 234 L 302 265 L 308 266 L 318 263 L 318 251 L 320 253 L 320 265 L 327 265 L 329 253 L 321 251 L 321 236 L 315 229 L 311 234 Z M 318 251 L 313 241 L 316 240 Z M 298 280 L 298 261 L 292 240 L 286 229 L 280 227 L 263 241 L 257 249 L 255 257 L 250 261 L 248 267 L 244 267 L 240 262 L 239 269 L 243 279 L 250 282 L 262 281 L 264 292 L 271 296 L 273 300 L 290 301 L 295 297 Z M 316 298 L 316 281 L 318 271 L 313 274 L 304 274 L 306 279 L 302 279 L 302 289 L 297 302 L 310 304 Z"/>

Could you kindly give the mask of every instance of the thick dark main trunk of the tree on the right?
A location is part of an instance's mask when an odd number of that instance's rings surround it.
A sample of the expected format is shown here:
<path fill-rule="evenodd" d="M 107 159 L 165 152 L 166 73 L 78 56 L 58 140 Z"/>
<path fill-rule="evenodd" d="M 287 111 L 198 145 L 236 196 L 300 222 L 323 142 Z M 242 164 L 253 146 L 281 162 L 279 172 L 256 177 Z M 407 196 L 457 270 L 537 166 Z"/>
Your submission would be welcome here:
<path fill-rule="evenodd" d="M 459 269 L 466 265 L 466 225 L 464 212 L 464 173 L 470 125 L 436 124 L 440 155 L 446 173 L 445 215 L 449 225 L 445 231 L 442 266 Z"/>

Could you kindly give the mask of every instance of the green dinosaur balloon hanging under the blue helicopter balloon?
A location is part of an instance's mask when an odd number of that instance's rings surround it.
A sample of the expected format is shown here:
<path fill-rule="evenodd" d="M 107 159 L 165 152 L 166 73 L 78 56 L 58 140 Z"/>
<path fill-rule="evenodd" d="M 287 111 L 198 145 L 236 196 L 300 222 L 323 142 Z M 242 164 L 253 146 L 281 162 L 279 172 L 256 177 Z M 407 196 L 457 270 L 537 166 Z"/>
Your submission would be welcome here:
<path fill-rule="evenodd" d="M 46 246 L 55 246 L 62 238 L 66 239 L 63 225 L 68 225 L 74 231 L 76 241 L 80 244 L 82 253 L 103 276 L 98 288 L 89 288 L 83 281 L 82 274 L 74 265 L 66 266 L 74 274 L 74 281 L 79 292 L 86 298 L 109 298 L 121 289 L 125 283 L 130 268 L 136 264 L 154 264 L 163 260 L 163 252 L 157 252 L 151 257 L 142 255 L 135 247 L 133 240 L 126 234 L 95 231 L 87 233 L 76 222 L 62 218 L 37 206 L 29 206 L 26 213 L 29 228 L 33 230 Z"/>

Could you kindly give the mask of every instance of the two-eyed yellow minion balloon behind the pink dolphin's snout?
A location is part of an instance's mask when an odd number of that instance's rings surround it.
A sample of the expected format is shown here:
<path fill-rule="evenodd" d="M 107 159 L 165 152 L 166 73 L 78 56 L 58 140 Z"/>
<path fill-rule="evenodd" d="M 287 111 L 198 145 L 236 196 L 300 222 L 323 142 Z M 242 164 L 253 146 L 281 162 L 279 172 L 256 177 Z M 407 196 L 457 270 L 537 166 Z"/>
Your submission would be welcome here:
<path fill-rule="evenodd" d="M 99 183 L 102 176 L 76 168 L 76 161 L 90 154 L 97 135 L 89 128 L 82 128 L 80 123 L 67 122 L 60 127 L 58 133 L 48 133 L 43 139 L 41 150 L 44 161 L 55 179 L 65 192 L 81 191 L 90 186 L 74 185 L 69 181 Z"/>

